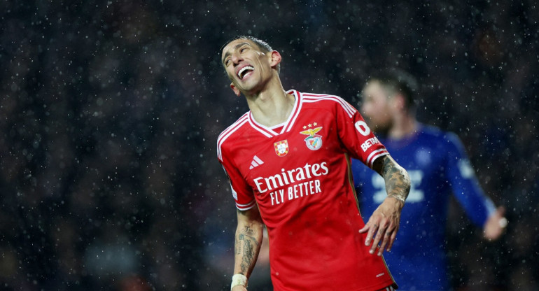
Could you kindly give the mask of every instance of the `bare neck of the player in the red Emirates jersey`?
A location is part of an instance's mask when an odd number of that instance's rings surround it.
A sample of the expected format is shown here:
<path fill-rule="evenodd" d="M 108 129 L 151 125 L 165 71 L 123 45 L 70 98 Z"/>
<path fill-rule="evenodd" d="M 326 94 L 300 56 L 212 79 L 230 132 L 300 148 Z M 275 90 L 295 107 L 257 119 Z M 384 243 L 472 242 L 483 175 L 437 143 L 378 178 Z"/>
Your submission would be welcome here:
<path fill-rule="evenodd" d="M 293 95 L 286 94 L 280 82 L 246 99 L 253 118 L 266 127 L 286 122 L 294 107 Z"/>

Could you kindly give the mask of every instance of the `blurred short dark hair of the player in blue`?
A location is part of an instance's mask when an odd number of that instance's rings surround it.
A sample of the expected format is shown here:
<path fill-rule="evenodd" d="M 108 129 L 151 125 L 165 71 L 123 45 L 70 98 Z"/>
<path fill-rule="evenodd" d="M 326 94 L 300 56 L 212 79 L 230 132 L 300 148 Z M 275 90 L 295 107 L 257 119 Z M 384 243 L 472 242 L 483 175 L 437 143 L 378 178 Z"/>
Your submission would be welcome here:
<path fill-rule="evenodd" d="M 389 69 L 374 73 L 369 82 L 377 81 L 388 92 L 400 93 L 405 98 L 405 105 L 408 109 L 416 106 L 415 94 L 417 92 L 417 81 L 409 73 L 400 69 Z"/>

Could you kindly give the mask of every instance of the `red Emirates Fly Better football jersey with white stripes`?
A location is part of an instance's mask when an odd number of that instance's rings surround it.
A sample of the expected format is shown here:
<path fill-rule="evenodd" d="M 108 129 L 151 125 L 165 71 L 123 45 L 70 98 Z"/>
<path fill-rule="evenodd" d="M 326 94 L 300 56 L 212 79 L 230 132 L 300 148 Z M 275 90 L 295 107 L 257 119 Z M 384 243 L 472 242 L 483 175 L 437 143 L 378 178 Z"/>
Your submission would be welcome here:
<path fill-rule="evenodd" d="M 245 113 L 218 138 L 218 159 L 236 207 L 258 206 L 269 234 L 276 291 L 378 290 L 393 284 L 371 255 L 351 178 L 351 157 L 367 166 L 387 155 L 340 97 L 290 90 L 295 104 L 273 129 Z"/>

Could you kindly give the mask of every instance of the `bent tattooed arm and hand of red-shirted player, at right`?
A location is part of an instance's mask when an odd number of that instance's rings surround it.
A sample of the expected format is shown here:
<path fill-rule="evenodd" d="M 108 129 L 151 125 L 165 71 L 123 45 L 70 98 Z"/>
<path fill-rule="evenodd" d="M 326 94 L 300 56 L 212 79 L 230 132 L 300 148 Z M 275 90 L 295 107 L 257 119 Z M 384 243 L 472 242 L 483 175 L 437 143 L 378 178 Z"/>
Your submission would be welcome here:
<path fill-rule="evenodd" d="M 391 250 L 397 236 L 400 212 L 410 190 L 410 179 L 407 171 L 389 155 L 374 160 L 372 169 L 384 178 L 387 197 L 359 232 L 367 232 L 365 246 L 369 246 L 373 239 L 370 253 L 373 254 L 380 243 L 378 255 L 381 255 L 384 249 Z"/>

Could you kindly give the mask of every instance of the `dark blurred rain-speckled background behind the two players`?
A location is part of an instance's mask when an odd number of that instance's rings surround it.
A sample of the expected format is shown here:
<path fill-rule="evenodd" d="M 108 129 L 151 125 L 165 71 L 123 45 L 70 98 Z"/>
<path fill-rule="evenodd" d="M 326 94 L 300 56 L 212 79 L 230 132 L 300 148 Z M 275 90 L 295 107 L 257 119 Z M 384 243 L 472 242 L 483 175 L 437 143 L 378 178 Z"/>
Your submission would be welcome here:
<path fill-rule="evenodd" d="M 285 89 L 354 105 L 372 71 L 413 73 L 419 120 L 507 208 L 488 242 L 450 205 L 454 288 L 537 290 L 539 7 L 454 2 L 1 1 L 0 290 L 230 290 L 237 34 L 281 52 Z"/>

